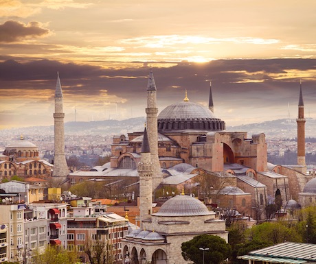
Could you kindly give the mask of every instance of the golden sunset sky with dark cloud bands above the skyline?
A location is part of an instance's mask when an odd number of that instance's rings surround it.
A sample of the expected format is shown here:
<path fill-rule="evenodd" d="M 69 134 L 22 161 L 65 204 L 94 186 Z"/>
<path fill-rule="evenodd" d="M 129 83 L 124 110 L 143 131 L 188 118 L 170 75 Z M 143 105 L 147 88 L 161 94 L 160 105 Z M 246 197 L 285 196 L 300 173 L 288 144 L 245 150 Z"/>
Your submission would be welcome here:
<path fill-rule="evenodd" d="M 0 0 L 0 129 L 144 117 L 182 101 L 227 126 L 316 118 L 315 0 Z M 76 112 L 76 115 L 75 115 Z"/>

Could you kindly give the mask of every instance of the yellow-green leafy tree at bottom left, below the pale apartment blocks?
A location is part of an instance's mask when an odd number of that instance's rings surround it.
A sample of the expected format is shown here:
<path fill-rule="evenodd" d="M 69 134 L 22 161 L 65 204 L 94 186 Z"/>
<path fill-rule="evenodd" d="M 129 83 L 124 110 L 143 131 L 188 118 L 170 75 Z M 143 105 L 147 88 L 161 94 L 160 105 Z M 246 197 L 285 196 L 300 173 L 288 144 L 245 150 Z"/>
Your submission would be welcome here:
<path fill-rule="evenodd" d="M 32 256 L 33 264 L 74 264 L 80 263 L 76 252 L 67 252 L 56 245 L 49 245 L 44 253 L 36 251 Z"/>

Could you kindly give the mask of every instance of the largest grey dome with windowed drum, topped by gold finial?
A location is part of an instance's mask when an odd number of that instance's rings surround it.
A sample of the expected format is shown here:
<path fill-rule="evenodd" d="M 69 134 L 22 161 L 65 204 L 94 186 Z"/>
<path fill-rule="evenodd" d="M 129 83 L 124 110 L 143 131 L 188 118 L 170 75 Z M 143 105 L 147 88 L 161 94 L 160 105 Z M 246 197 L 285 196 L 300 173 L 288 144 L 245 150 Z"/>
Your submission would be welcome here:
<path fill-rule="evenodd" d="M 158 115 L 159 130 L 225 130 L 225 122 L 213 112 L 191 101 L 171 104 Z"/>

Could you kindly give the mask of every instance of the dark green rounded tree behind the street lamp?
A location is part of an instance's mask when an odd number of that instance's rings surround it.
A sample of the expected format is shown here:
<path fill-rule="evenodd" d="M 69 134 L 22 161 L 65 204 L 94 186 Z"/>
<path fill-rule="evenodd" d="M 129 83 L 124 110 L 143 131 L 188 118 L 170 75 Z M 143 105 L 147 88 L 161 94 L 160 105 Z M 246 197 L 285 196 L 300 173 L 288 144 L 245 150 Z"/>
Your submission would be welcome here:
<path fill-rule="evenodd" d="M 203 262 L 203 252 L 200 248 L 210 248 L 204 252 L 205 263 L 219 264 L 229 258 L 232 248 L 224 239 L 213 235 L 199 235 L 190 241 L 183 242 L 181 254 L 185 261 L 192 261 L 194 264 Z"/>

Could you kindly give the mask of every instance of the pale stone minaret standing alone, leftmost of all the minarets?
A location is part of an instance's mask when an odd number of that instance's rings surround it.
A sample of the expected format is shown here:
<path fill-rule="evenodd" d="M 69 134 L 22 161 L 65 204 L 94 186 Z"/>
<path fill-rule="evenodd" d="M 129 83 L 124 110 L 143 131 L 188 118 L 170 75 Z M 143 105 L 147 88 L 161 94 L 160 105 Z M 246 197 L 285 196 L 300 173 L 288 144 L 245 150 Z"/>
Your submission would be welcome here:
<path fill-rule="evenodd" d="M 65 157 L 64 117 L 65 114 L 63 113 L 63 91 L 61 90 L 59 74 L 57 73 L 54 112 L 55 155 L 53 176 L 61 178 L 65 178 L 69 172 Z"/>

